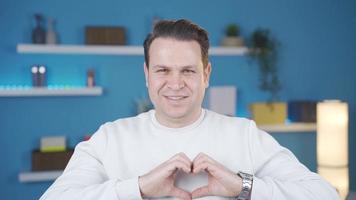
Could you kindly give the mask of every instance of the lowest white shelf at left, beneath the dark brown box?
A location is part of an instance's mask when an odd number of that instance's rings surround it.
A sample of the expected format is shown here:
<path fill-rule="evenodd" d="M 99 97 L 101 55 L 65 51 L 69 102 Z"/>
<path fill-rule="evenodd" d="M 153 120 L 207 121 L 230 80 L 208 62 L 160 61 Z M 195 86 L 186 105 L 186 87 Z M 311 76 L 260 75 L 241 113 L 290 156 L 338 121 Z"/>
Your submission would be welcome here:
<path fill-rule="evenodd" d="M 58 171 L 40 171 L 40 172 L 21 172 L 18 176 L 22 183 L 42 182 L 56 180 L 61 174 L 62 170 Z"/>

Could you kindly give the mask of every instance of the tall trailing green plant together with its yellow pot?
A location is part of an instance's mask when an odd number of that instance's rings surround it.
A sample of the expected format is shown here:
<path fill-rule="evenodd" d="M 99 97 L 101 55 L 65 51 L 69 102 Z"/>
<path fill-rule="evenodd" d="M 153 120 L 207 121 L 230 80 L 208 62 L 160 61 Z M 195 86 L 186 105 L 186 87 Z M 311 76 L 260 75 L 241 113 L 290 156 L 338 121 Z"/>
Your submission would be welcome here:
<path fill-rule="evenodd" d="M 258 28 L 252 33 L 250 56 L 260 69 L 259 88 L 270 95 L 267 102 L 250 106 L 257 124 L 282 124 L 287 117 L 287 104 L 277 101 L 281 89 L 277 68 L 278 46 L 268 29 Z"/>

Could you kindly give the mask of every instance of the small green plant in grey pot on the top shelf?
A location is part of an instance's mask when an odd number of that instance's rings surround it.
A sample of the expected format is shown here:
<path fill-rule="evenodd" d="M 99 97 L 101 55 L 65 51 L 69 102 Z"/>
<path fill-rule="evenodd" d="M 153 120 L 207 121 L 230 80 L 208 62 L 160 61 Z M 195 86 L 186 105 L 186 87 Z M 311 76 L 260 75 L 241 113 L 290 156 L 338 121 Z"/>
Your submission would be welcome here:
<path fill-rule="evenodd" d="M 244 46 L 244 41 L 240 37 L 240 27 L 237 24 L 229 24 L 225 29 L 225 37 L 221 42 L 222 46 L 240 47 Z"/>

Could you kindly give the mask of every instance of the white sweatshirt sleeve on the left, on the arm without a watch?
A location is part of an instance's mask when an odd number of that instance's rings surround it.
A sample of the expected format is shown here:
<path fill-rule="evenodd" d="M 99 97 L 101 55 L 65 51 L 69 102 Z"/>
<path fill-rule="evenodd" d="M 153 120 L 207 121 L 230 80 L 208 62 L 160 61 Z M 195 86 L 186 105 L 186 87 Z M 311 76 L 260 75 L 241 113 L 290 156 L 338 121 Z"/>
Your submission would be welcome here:
<path fill-rule="evenodd" d="M 44 199 L 142 199 L 138 177 L 109 179 L 102 159 L 107 134 L 105 125 L 89 141 L 79 143 L 63 174 L 42 195 Z"/>

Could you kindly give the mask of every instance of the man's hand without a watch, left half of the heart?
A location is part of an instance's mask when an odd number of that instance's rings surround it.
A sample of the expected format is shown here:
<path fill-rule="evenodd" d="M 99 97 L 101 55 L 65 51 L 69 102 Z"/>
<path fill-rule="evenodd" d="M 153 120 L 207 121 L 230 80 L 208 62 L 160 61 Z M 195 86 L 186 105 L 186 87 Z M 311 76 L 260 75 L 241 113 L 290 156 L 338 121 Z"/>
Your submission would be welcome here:
<path fill-rule="evenodd" d="M 174 181 L 178 170 L 191 173 L 192 162 L 184 153 L 174 155 L 138 179 L 142 198 L 178 197 L 191 200 L 191 194 L 177 188 Z"/>

